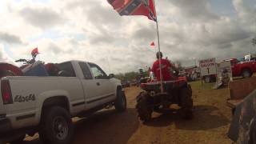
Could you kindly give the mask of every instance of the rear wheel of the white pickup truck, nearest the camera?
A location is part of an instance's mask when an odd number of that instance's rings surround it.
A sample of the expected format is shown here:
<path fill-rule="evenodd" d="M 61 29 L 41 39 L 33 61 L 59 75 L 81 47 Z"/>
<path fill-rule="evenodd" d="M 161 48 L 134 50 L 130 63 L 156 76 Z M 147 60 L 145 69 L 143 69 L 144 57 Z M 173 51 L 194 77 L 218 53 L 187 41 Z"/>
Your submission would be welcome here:
<path fill-rule="evenodd" d="M 39 138 L 44 143 L 69 144 L 74 136 L 74 126 L 68 111 L 60 106 L 47 108 L 42 115 Z"/>

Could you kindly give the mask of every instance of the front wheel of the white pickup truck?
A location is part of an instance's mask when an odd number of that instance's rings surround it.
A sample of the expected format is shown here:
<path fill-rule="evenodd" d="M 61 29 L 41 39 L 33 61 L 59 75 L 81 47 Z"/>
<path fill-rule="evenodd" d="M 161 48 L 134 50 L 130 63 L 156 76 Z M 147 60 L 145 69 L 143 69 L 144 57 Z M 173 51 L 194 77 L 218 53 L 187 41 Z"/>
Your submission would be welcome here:
<path fill-rule="evenodd" d="M 126 94 L 122 90 L 118 90 L 118 97 L 114 102 L 115 110 L 123 112 L 126 110 Z"/>

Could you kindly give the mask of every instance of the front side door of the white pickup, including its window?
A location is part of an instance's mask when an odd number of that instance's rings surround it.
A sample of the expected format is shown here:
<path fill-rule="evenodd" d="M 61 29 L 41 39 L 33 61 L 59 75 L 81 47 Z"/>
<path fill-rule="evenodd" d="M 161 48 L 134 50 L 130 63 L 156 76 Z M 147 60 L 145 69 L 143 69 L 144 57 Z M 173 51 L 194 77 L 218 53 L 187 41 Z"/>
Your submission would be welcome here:
<path fill-rule="evenodd" d="M 82 86 L 86 99 L 86 109 L 99 106 L 114 99 L 114 85 L 99 66 L 79 62 L 84 78 Z"/>

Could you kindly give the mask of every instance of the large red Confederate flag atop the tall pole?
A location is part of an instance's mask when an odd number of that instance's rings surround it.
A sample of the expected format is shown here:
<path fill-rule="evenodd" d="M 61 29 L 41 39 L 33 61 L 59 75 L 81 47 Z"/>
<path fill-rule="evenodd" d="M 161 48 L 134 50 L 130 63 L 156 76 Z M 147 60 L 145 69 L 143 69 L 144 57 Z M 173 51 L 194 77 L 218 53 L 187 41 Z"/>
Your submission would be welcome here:
<path fill-rule="evenodd" d="M 107 0 L 122 15 L 145 15 L 157 21 L 153 0 Z"/>

